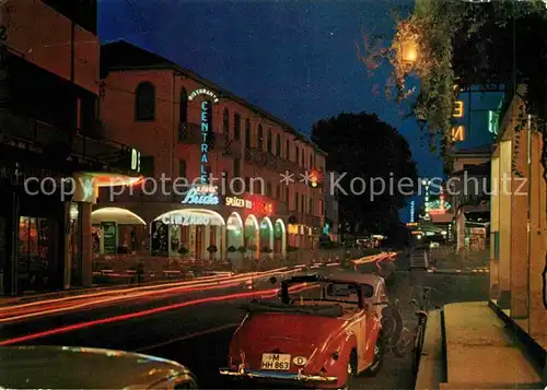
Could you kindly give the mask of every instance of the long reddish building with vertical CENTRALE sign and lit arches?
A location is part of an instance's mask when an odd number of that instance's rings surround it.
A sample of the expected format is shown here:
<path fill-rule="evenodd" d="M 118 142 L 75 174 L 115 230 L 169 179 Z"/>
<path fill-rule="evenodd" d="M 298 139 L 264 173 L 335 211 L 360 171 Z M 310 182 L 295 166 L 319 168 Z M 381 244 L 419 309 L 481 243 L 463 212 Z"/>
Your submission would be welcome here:
<path fill-rule="evenodd" d="M 241 250 L 282 256 L 290 247 L 316 245 L 325 153 L 315 144 L 261 108 L 129 43 L 103 46 L 101 59 L 106 134 L 142 152 L 147 179 L 130 191 L 102 194 L 94 212 L 100 236 L 101 224 L 112 222 L 116 247 L 132 243 L 131 249 L 153 256 L 200 259 Z"/>

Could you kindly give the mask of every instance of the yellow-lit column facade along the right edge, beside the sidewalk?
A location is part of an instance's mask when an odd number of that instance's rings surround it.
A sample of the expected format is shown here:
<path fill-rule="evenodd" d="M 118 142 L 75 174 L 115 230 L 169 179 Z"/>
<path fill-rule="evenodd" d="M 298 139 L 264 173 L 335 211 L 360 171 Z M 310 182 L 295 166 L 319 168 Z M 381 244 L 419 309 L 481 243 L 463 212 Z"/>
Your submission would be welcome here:
<path fill-rule="evenodd" d="M 522 96 L 523 88 L 519 91 Z M 510 96 L 491 163 L 491 299 L 547 347 L 547 189 L 543 137 L 517 96 Z M 525 126 L 519 116 L 524 113 Z"/>

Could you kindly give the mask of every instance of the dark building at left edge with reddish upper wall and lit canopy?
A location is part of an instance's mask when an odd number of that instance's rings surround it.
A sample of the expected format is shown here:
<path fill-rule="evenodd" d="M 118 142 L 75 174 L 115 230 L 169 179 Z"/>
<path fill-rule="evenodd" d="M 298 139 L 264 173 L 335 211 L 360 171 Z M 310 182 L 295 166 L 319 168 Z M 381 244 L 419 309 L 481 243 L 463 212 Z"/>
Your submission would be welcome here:
<path fill-rule="evenodd" d="M 98 186 L 137 175 L 101 138 L 96 1 L 0 4 L 0 289 L 91 285 Z"/>

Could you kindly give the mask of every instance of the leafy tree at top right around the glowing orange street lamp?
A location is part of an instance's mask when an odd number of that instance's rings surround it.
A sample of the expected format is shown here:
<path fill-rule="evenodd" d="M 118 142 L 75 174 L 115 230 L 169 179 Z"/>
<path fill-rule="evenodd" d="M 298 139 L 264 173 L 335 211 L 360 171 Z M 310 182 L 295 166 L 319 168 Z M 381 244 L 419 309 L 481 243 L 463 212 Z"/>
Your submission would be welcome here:
<path fill-rule="evenodd" d="M 441 140 L 445 170 L 452 167 L 445 152 L 452 144 L 452 113 L 459 91 L 478 85 L 514 95 L 520 84 L 527 85 L 521 97 L 544 138 L 546 168 L 547 10 L 543 0 L 416 0 L 408 17 L 396 20 L 389 45 L 377 42 L 377 37 L 363 40 L 361 60 L 369 69 L 391 62 L 387 95 L 398 102 L 412 98 L 412 115 L 421 128 L 432 141 Z M 405 61 L 409 47 L 416 54 L 411 63 Z M 406 87 L 410 74 L 420 80 L 418 94 Z M 544 177 L 547 180 L 547 170 Z"/>

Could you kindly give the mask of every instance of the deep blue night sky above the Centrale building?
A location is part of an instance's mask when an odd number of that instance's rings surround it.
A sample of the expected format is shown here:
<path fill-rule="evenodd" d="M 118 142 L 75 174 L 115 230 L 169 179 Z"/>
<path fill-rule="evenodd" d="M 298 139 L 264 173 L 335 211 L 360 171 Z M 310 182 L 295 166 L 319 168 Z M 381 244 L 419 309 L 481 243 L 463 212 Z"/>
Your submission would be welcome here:
<path fill-rule="evenodd" d="M 126 39 L 265 108 L 310 135 L 312 123 L 341 111 L 376 113 L 408 140 L 421 177 L 442 165 L 414 119 L 386 99 L 389 68 L 373 76 L 358 60 L 361 29 L 394 32 L 391 11 L 414 0 L 229 2 L 100 0 L 103 43 Z M 380 93 L 375 93 L 380 85 Z M 408 212 L 401 212 L 407 221 Z"/>

